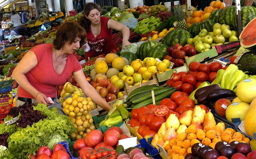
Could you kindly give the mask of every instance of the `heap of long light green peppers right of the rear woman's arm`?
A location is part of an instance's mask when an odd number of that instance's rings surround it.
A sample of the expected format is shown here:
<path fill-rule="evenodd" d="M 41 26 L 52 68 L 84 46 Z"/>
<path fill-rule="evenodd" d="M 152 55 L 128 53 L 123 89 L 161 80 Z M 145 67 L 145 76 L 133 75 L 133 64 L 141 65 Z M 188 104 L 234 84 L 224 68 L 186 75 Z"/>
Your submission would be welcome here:
<path fill-rule="evenodd" d="M 144 35 L 156 29 L 159 26 L 159 24 L 160 24 L 160 19 L 155 18 L 154 16 L 151 16 L 150 18 L 145 18 L 143 20 L 140 20 L 137 24 L 137 27 L 134 29 L 134 32 Z"/>

